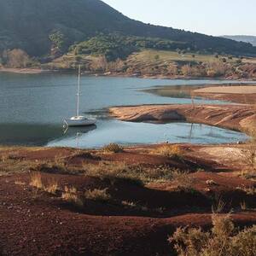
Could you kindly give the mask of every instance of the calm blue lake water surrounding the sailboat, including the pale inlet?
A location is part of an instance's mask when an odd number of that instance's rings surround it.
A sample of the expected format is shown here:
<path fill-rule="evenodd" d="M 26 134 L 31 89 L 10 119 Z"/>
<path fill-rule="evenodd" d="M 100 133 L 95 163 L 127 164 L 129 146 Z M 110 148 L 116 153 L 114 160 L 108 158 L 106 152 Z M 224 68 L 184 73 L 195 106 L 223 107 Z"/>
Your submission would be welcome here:
<path fill-rule="evenodd" d="M 100 147 L 107 143 L 226 143 L 244 139 L 241 133 L 207 125 L 127 123 L 108 118 L 111 106 L 191 103 L 188 98 L 144 92 L 163 85 L 225 83 L 216 80 L 160 80 L 83 77 L 81 113 L 98 119 L 90 129 L 62 129 L 74 115 L 77 77 L 71 74 L 20 75 L 0 73 L 0 143 L 19 145 Z M 214 103 L 200 100 L 197 102 Z M 219 102 L 217 102 L 219 103 Z"/>

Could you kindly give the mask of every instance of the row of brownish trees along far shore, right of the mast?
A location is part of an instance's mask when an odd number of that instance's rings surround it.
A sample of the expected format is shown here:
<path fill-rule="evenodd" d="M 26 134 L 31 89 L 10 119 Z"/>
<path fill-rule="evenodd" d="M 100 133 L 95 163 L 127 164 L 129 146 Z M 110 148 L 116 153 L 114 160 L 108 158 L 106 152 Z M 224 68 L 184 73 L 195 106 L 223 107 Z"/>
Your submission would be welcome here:
<path fill-rule="evenodd" d="M 160 64 L 160 65 L 148 65 L 143 63 L 127 63 L 118 59 L 117 61 L 108 61 L 104 56 L 95 58 L 92 61 L 88 61 L 84 66 L 84 69 L 90 72 L 99 73 L 127 73 L 139 75 L 163 75 L 163 76 L 185 76 L 185 77 L 237 77 L 237 78 L 249 78 L 256 73 L 249 73 L 247 71 L 247 65 L 237 65 L 226 63 L 222 61 L 204 62 L 200 64 Z"/>

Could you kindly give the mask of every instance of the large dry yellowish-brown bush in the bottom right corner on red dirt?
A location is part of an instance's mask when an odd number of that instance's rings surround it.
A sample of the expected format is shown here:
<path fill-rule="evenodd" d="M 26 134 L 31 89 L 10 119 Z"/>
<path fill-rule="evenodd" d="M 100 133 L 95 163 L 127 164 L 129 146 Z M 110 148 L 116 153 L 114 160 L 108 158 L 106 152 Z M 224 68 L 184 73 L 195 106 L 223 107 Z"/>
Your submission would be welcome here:
<path fill-rule="evenodd" d="M 181 256 L 254 256 L 256 255 L 256 225 L 236 230 L 226 216 L 212 215 L 212 230 L 178 228 L 169 241 Z"/>

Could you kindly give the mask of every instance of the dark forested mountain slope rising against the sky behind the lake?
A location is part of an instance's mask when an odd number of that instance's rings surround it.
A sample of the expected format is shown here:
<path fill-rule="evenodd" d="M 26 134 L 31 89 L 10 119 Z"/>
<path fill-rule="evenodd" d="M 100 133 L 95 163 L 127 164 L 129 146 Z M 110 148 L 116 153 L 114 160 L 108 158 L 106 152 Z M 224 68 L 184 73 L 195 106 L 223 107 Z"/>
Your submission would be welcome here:
<path fill-rule="evenodd" d="M 59 31 L 67 45 L 97 32 L 168 38 L 191 48 L 256 54 L 251 44 L 131 20 L 100 0 L 0 0 L 0 50 L 20 48 L 30 55 L 49 53 L 49 35 Z"/>

